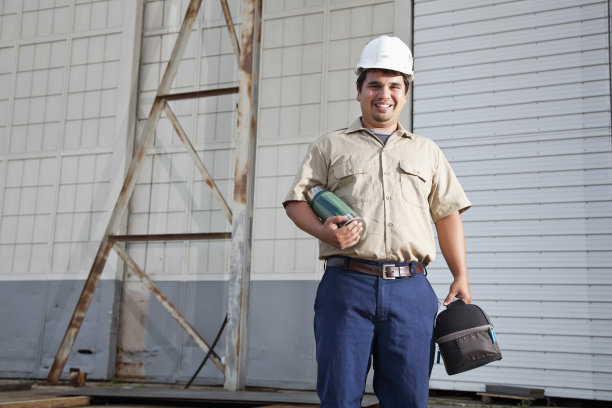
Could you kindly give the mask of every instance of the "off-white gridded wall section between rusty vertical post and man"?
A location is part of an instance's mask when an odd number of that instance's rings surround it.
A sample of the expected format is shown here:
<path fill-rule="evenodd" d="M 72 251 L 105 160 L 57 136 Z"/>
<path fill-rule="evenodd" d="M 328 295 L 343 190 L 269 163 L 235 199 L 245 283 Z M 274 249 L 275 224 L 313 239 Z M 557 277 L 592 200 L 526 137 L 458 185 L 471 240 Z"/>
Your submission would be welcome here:
<path fill-rule="evenodd" d="M 409 29 L 409 19 L 395 24 L 395 14 L 406 5 L 389 0 L 264 2 L 254 279 L 320 277 L 317 241 L 295 227 L 279 204 L 309 144 L 359 116 L 355 65 L 361 49 L 379 35 Z"/>

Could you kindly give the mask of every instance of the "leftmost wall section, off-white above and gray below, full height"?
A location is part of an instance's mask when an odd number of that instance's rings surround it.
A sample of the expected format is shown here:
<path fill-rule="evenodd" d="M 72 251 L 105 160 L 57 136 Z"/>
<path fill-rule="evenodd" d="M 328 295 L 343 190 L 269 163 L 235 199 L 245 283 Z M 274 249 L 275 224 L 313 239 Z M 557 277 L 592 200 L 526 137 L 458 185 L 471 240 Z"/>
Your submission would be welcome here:
<path fill-rule="evenodd" d="M 0 342 L 15 362 L 3 375 L 46 376 L 118 194 L 135 122 L 138 4 L 0 1 L 0 281 L 16 288 L 0 300 Z M 118 269 L 113 255 L 103 275 L 113 283 L 100 284 L 78 340 L 94 352 L 68 362 L 91 378 L 107 377 L 113 360 L 114 335 L 97 330 L 110 328 Z"/>

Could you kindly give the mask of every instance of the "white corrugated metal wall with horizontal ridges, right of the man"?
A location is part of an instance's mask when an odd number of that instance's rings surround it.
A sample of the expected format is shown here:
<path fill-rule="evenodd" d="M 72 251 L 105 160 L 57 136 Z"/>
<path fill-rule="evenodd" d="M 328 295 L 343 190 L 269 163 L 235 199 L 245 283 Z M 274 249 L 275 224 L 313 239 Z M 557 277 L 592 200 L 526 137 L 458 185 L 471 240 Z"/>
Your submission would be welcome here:
<path fill-rule="evenodd" d="M 474 204 L 472 291 L 504 357 L 453 377 L 436 367 L 433 387 L 612 399 L 608 7 L 415 1 L 414 129 L 439 143 Z"/>

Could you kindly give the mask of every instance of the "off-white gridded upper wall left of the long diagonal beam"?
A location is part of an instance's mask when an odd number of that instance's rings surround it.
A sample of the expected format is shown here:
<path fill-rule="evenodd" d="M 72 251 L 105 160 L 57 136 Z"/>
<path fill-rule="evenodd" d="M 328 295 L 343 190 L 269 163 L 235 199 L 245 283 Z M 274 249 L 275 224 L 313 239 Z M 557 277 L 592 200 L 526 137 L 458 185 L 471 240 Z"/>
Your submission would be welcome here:
<path fill-rule="evenodd" d="M 0 279 L 86 276 L 131 138 L 134 10 L 0 4 Z"/>

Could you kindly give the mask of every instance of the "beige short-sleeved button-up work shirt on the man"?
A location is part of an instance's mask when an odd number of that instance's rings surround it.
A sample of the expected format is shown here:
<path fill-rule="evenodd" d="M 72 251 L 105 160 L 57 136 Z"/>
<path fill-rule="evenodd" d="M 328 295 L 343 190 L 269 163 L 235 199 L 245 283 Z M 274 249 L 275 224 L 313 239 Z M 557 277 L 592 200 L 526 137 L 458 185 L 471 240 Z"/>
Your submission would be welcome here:
<path fill-rule="evenodd" d="M 309 201 L 317 185 L 333 191 L 365 221 L 357 245 L 340 250 L 319 241 L 319 258 L 332 255 L 410 262 L 435 259 L 434 222 L 471 204 L 440 148 L 401 125 L 383 144 L 363 128 L 319 137 L 310 146 L 288 201 Z"/>

